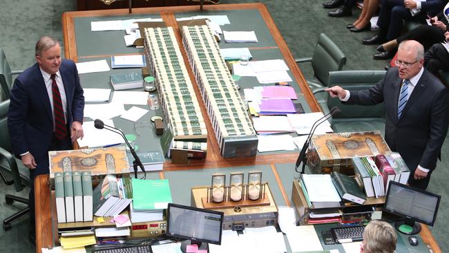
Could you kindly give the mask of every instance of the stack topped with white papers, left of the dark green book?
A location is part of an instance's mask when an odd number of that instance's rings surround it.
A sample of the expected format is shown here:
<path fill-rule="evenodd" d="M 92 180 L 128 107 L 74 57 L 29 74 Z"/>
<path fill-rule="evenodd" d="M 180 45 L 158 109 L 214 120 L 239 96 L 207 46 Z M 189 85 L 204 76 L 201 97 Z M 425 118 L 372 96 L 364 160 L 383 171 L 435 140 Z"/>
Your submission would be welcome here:
<path fill-rule="evenodd" d="M 309 205 L 308 223 L 341 221 L 344 203 L 328 174 L 303 174 L 299 184 Z"/>

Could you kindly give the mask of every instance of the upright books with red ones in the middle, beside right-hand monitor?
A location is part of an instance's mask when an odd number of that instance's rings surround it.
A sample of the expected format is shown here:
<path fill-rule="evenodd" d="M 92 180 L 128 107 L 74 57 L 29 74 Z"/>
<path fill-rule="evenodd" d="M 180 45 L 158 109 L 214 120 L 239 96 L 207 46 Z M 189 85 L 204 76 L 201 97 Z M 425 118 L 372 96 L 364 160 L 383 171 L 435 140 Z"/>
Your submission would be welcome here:
<path fill-rule="evenodd" d="M 352 158 L 356 180 L 365 191 L 367 197 L 385 196 L 390 181 L 406 184 L 410 169 L 405 165 L 399 153 L 378 155 L 375 158 Z"/>

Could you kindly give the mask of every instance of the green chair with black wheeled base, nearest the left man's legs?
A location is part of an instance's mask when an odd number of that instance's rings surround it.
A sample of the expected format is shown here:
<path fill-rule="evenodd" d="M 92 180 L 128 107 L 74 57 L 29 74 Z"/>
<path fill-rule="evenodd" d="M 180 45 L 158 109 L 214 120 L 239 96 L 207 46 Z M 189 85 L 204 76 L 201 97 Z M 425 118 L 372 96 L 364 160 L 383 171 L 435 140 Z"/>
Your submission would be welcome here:
<path fill-rule="evenodd" d="M 13 178 L 13 182 L 16 191 L 23 190 L 23 185 L 30 187 L 30 171 L 26 167 L 23 167 L 21 162 L 17 162 L 14 154 L 11 151 L 10 135 L 8 132 L 8 108 L 10 105 L 10 100 L 6 100 L 0 103 L 0 174 L 3 180 L 5 176 L 3 171 L 10 171 Z M 8 182 L 6 182 L 8 184 Z M 11 221 L 23 216 L 30 212 L 28 209 L 28 199 L 6 194 L 6 203 L 12 204 L 12 202 L 17 201 L 20 203 L 25 203 L 27 206 L 21 209 L 19 212 L 12 214 L 8 218 L 3 220 L 3 229 L 7 230 L 11 228 Z"/>

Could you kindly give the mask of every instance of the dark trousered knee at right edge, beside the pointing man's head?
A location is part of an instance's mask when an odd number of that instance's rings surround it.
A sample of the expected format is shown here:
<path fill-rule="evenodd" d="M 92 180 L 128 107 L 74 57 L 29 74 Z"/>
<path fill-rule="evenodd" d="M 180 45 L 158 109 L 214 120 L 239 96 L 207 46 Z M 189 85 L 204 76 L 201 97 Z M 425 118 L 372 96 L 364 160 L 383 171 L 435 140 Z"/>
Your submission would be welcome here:
<path fill-rule="evenodd" d="M 449 71 L 449 53 L 441 44 L 434 44 L 424 55 L 424 68 L 438 75 L 438 71 Z"/>

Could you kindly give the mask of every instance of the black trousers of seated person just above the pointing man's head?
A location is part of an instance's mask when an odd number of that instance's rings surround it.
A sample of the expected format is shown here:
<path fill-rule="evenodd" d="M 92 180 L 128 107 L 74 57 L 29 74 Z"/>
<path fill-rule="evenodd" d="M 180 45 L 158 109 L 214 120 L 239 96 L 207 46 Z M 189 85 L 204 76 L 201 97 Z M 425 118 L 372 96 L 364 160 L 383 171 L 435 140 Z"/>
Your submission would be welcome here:
<path fill-rule="evenodd" d="M 428 50 L 433 44 L 443 42 L 444 30 L 434 26 L 421 25 L 410 32 L 405 33 L 397 38 L 398 44 L 405 40 L 416 40 L 424 46 L 424 50 Z"/>

